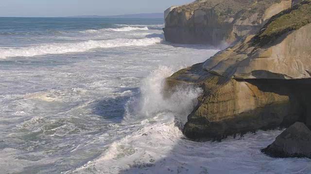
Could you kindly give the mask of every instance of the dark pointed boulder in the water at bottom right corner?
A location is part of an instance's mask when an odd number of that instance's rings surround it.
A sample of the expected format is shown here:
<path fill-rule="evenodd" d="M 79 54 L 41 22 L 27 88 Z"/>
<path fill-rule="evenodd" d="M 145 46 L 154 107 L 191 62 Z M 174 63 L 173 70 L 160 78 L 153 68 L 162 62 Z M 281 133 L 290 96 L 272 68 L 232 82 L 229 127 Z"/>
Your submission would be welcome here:
<path fill-rule="evenodd" d="M 311 158 L 311 131 L 305 124 L 296 122 L 277 136 L 275 142 L 261 151 L 276 158 Z"/>

